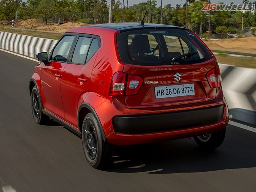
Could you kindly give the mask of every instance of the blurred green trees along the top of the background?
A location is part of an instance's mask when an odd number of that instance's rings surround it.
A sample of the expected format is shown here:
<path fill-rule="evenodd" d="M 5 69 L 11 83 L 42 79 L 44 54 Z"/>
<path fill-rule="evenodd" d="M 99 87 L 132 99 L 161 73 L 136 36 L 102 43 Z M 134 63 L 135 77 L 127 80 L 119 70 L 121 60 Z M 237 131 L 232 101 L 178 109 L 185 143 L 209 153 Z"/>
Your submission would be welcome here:
<path fill-rule="evenodd" d="M 127 6 L 128 0 L 122 2 L 112 0 L 113 22 L 138 22 L 149 10 L 150 1 Z M 237 33 L 243 28 L 256 26 L 256 13 L 250 11 L 211 11 L 210 31 L 209 12 L 201 11 L 208 1 L 187 0 L 184 5 L 167 4 L 162 7 L 162 24 L 187 27 L 197 34 L 206 33 Z M 220 2 L 221 3 L 221 2 Z M 232 2 L 231 2 L 232 3 Z M 247 0 L 241 3 L 253 3 Z M 66 23 L 84 22 L 89 24 L 108 23 L 109 5 L 106 0 L 1 0 L 0 20 L 15 19 L 15 5 L 18 10 L 18 20 L 36 18 L 48 22 Z M 149 11 L 148 11 L 149 12 Z M 161 23 L 161 7 L 156 1 L 151 1 L 151 22 Z M 149 22 L 149 15 L 145 18 Z M 200 31 L 201 28 L 201 31 Z M 255 32 L 254 32 L 255 34 Z"/>

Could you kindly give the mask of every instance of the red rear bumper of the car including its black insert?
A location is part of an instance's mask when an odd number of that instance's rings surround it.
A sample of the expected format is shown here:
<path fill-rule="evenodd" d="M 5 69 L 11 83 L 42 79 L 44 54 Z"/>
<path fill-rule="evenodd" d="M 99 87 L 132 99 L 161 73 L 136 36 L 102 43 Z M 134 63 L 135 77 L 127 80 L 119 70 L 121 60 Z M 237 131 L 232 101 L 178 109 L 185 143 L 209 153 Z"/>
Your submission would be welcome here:
<path fill-rule="evenodd" d="M 222 92 L 209 102 L 162 109 L 127 109 L 124 103 L 106 100 L 95 111 L 107 142 L 114 145 L 143 144 L 214 133 L 227 126 L 229 116 Z"/>

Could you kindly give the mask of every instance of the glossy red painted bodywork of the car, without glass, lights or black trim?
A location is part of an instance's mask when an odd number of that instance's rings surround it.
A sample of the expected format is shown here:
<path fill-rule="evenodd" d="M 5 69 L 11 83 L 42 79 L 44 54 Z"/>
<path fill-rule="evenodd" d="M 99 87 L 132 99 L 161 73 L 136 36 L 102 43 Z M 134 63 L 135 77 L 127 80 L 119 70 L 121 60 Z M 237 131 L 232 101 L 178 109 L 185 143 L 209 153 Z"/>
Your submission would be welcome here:
<path fill-rule="evenodd" d="M 192 137 L 219 131 L 227 125 L 228 108 L 222 87 L 211 88 L 205 75 L 217 66 L 214 56 L 208 61 L 191 65 L 156 67 L 124 64 L 119 57 L 116 43 L 116 35 L 119 31 L 87 26 L 71 29 L 67 33 L 97 35 L 100 37 L 101 46 L 85 65 L 53 61 L 47 65 L 40 63 L 36 66 L 32 78 L 39 89 L 43 108 L 71 127 L 80 130 L 78 113 L 83 103 L 89 104 L 94 109 L 107 142 L 115 145 Z M 111 79 L 115 72 L 142 76 L 144 82 L 138 93 L 129 96 L 110 96 Z M 184 77 L 178 83 L 171 78 L 176 72 L 182 73 Z M 79 78 L 85 79 L 86 82 L 81 82 Z M 157 100 L 154 97 L 155 85 L 146 85 L 145 81 L 159 81 L 157 86 L 166 83 L 175 85 L 193 82 L 197 93 L 186 97 Z M 205 126 L 145 134 L 119 133 L 113 126 L 113 118 L 116 116 L 162 114 L 220 105 L 224 105 L 222 118 L 214 124 Z"/>

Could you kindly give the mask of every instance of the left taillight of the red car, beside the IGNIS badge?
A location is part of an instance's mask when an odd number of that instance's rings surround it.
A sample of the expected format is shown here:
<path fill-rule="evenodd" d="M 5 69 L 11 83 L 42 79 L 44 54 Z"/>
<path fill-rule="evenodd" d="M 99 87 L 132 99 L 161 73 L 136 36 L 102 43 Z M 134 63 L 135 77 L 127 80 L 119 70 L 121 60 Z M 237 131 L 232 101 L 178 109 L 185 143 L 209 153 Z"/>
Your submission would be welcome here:
<path fill-rule="evenodd" d="M 135 95 L 143 83 L 143 78 L 123 72 L 114 73 L 109 95 Z"/>

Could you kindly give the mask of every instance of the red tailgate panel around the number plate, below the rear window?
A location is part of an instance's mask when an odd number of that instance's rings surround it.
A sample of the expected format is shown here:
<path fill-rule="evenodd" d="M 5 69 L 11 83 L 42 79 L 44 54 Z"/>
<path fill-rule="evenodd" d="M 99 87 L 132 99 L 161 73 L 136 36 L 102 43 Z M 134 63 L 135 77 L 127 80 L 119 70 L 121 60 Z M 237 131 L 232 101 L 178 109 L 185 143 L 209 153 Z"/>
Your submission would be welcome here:
<path fill-rule="evenodd" d="M 187 84 L 194 83 L 195 95 L 190 95 L 185 98 L 171 97 L 164 98 L 159 101 L 155 98 L 155 90 L 152 85 L 143 85 L 136 95 L 126 96 L 125 104 L 127 108 L 145 108 L 153 106 L 173 106 L 183 105 L 191 102 L 203 102 L 212 100 L 216 97 L 216 89 L 212 89 L 206 79 L 206 72 L 217 65 L 216 59 L 193 64 L 193 65 L 176 65 L 176 66 L 134 66 L 125 64 L 123 72 L 131 73 L 144 77 L 144 81 L 158 81 L 157 86 L 166 84 Z M 182 73 L 184 78 L 176 82 L 172 76 L 176 72 Z"/>

